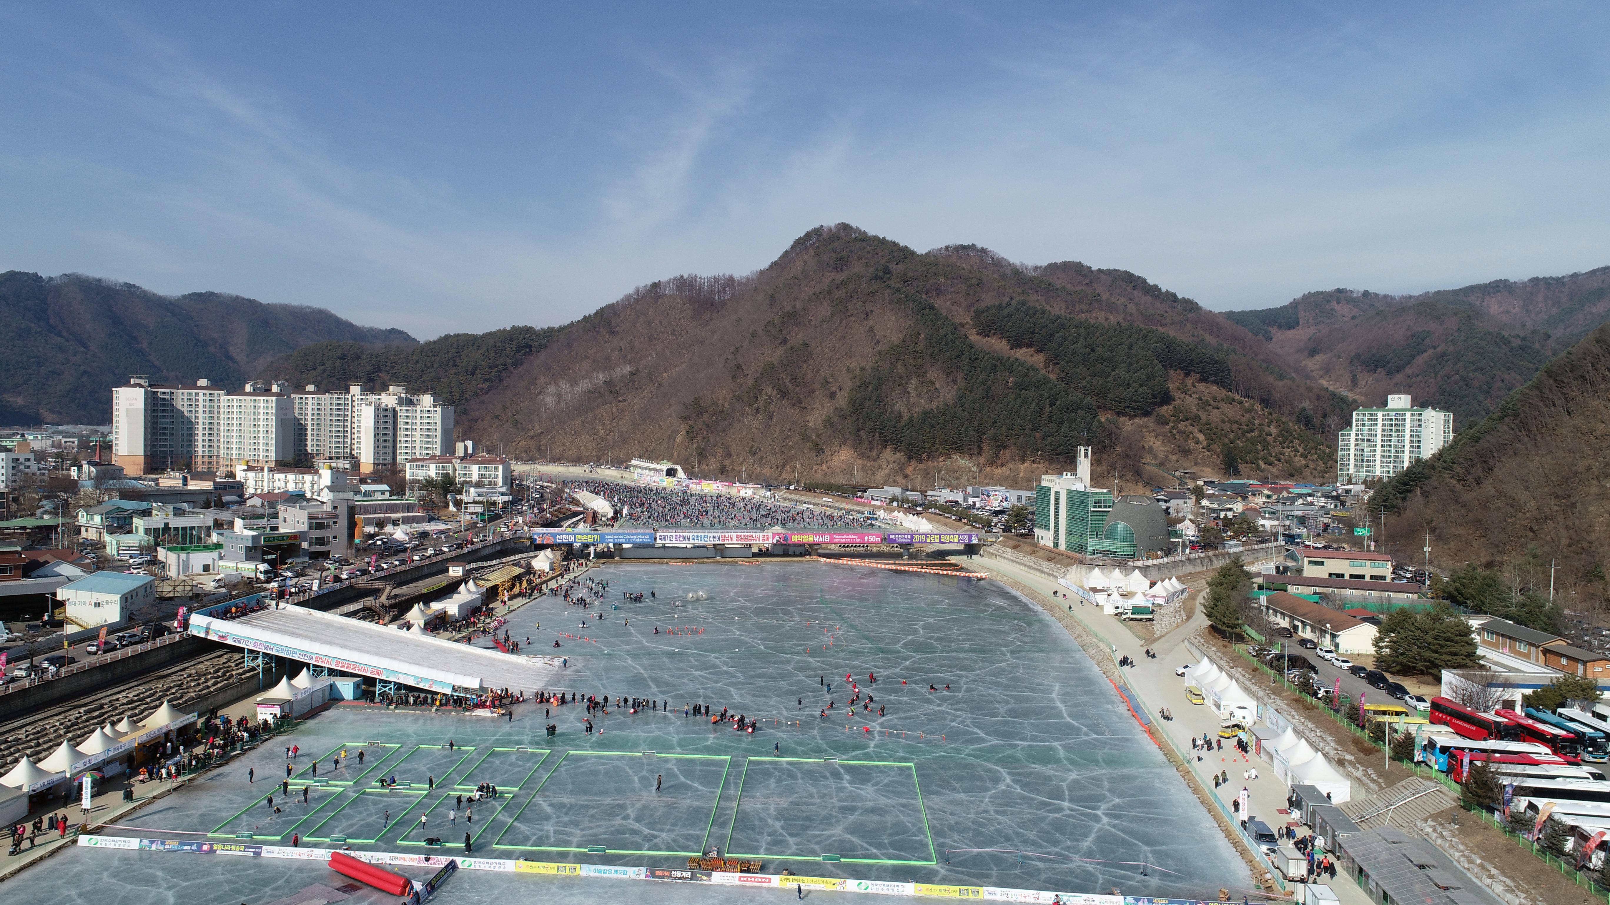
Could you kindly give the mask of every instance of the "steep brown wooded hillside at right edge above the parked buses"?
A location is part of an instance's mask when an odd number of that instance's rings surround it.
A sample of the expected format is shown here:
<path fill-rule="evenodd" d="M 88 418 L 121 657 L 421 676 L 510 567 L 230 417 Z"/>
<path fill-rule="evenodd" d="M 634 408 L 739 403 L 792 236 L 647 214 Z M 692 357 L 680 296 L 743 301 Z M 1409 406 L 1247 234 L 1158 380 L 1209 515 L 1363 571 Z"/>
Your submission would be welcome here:
<path fill-rule="evenodd" d="M 1610 549 L 1610 325 L 1596 329 L 1370 501 L 1385 507 L 1386 543 L 1433 562 L 1468 564 L 1483 596 L 1544 591 L 1549 564 L 1562 599 L 1597 601 Z M 1478 570 L 1491 568 L 1480 575 Z M 1470 588 L 1465 588 L 1470 593 Z M 1573 593 L 1579 596 L 1571 597 Z"/>

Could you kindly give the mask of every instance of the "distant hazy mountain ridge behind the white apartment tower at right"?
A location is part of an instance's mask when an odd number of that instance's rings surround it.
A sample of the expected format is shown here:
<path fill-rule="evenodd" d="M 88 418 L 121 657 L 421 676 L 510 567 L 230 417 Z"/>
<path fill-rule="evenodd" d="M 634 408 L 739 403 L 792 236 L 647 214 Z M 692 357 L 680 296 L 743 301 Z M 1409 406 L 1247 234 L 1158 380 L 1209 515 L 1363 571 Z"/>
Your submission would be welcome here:
<path fill-rule="evenodd" d="M 1610 267 L 1410 296 L 1314 291 L 1225 317 L 1359 404 L 1410 393 L 1417 406 L 1454 412 L 1463 428 L 1610 320 Z"/>

